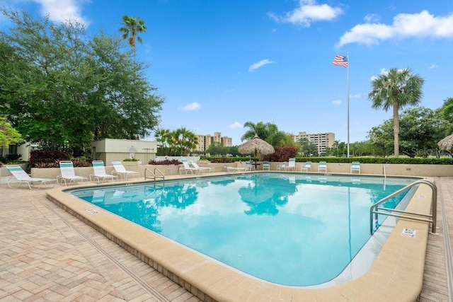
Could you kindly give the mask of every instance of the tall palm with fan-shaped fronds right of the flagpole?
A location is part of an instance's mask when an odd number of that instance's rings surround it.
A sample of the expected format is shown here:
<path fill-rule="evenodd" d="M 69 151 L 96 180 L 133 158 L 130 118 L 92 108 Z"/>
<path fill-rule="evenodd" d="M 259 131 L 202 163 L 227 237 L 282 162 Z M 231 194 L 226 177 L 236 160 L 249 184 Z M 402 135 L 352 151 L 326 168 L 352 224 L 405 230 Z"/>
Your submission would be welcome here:
<path fill-rule="evenodd" d="M 393 108 L 394 115 L 394 156 L 399 156 L 399 115 L 398 110 L 407 105 L 417 105 L 423 96 L 422 86 L 425 82 L 411 69 L 392 68 L 379 75 L 372 81 L 372 91 L 368 99 L 372 108 L 383 108 L 385 111 Z"/>

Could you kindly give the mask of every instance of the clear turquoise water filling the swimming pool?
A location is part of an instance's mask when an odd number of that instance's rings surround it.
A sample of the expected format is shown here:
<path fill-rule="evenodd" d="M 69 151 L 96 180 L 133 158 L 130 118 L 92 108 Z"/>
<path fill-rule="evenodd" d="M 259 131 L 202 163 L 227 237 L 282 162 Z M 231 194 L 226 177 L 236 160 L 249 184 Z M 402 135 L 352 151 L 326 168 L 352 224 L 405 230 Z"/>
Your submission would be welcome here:
<path fill-rule="evenodd" d="M 337 277 L 367 243 L 371 205 L 413 181 L 247 173 L 71 194 L 253 277 L 311 286 Z"/>

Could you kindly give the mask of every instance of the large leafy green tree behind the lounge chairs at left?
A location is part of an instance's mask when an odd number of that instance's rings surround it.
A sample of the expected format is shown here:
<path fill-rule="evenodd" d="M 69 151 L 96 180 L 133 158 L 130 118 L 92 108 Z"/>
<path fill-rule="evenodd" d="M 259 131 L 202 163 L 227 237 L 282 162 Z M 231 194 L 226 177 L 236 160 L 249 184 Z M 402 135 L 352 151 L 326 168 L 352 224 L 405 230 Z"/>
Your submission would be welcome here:
<path fill-rule="evenodd" d="M 159 123 L 164 99 L 119 39 L 0 11 L 13 23 L 0 31 L 0 115 L 26 141 L 76 152 L 93 139 L 146 137 Z"/>

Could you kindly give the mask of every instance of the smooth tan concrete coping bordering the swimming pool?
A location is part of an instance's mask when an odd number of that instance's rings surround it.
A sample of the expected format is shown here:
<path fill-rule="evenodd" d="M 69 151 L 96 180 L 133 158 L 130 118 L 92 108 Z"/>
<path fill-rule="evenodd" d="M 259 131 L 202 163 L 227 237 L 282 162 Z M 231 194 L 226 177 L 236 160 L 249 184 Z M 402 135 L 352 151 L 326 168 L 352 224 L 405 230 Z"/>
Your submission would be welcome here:
<path fill-rule="evenodd" d="M 172 180 L 205 176 L 212 175 Z M 124 182 L 103 185 L 120 184 Z M 422 289 L 430 227 L 426 222 L 400 219 L 372 267 L 362 277 L 329 288 L 306 289 L 271 284 L 241 274 L 95 204 L 88 206 L 86 202 L 64 192 L 73 188 L 96 186 L 98 185 L 57 187 L 47 190 L 47 198 L 185 287 L 202 301 L 416 301 Z M 430 214 L 431 202 L 427 202 L 428 199 L 431 199 L 430 187 L 419 185 L 407 210 Z M 415 230 L 415 236 L 402 236 L 405 228 Z"/>

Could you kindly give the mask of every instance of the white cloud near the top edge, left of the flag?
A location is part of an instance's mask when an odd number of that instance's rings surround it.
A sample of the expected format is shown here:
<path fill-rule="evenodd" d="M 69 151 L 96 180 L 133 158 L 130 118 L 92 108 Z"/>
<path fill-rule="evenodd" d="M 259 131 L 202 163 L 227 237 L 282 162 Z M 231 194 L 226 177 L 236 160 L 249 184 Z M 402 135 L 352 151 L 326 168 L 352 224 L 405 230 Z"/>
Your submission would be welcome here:
<path fill-rule="evenodd" d="M 286 16 L 276 16 L 268 13 L 270 18 L 277 22 L 299 24 L 309 27 L 316 21 L 331 21 L 343 13 L 339 7 L 329 6 L 328 4 L 316 4 L 315 0 L 300 0 L 299 6 L 290 11 Z"/>

